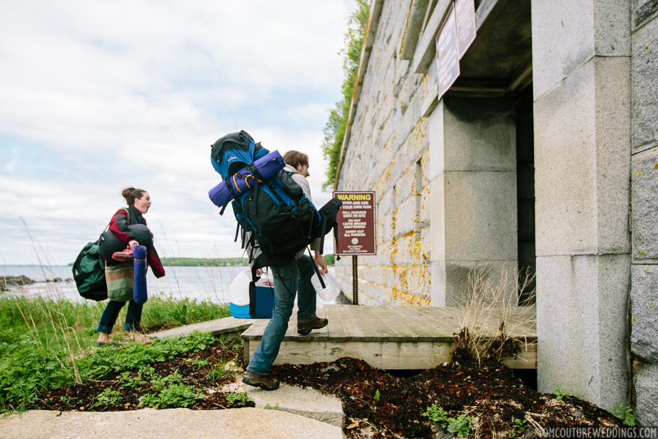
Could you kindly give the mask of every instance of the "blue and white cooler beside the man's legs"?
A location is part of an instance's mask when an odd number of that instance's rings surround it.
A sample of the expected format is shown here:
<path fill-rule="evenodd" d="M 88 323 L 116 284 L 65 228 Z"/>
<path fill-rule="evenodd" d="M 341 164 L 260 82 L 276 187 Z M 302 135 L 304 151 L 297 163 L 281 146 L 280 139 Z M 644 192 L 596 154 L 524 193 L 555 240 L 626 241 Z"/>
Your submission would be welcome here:
<path fill-rule="evenodd" d="M 256 282 L 256 313 L 249 316 L 249 282 L 251 270 L 240 272 L 231 282 L 231 316 L 234 318 L 272 318 L 274 309 L 274 282 L 270 273 L 263 272 Z"/>

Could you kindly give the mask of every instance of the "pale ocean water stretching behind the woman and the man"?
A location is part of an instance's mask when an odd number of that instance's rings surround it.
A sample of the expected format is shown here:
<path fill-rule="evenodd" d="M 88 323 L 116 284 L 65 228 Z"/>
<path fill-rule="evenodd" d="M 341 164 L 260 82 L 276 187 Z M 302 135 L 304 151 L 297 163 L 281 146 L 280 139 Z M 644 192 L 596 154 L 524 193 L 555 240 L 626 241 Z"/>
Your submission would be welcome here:
<path fill-rule="evenodd" d="M 247 267 L 165 267 L 167 274 L 156 278 L 151 270 L 147 273 L 147 286 L 150 296 L 162 295 L 175 299 L 190 298 L 210 300 L 215 303 L 230 302 L 230 285 L 233 279 Z M 334 274 L 334 268 L 329 272 Z M 84 300 L 80 297 L 71 267 L 52 266 L 41 268 L 38 265 L 0 265 L 0 276 L 27 276 L 36 281 L 24 287 L 10 287 L 13 294 L 40 295 L 49 298 L 68 298 L 69 300 Z M 61 279 L 58 282 L 47 282 Z M 324 302 L 317 298 L 319 305 Z"/>

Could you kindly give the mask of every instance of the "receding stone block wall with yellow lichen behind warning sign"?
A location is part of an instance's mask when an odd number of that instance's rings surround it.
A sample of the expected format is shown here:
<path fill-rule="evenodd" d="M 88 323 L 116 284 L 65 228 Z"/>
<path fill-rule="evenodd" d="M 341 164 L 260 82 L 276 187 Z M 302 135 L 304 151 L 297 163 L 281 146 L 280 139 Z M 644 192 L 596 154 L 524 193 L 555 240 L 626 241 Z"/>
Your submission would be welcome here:
<path fill-rule="evenodd" d="M 430 304 L 427 78 L 399 59 L 410 0 L 385 1 L 338 191 L 376 193 L 377 254 L 358 257 L 359 303 Z M 352 258 L 336 264 L 352 297 Z"/>

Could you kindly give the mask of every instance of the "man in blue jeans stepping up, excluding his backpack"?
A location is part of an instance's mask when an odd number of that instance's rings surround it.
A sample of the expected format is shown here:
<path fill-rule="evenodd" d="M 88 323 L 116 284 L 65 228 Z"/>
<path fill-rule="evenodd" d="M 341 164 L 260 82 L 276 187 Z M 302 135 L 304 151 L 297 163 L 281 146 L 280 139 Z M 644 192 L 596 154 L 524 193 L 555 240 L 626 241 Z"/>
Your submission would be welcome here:
<path fill-rule="evenodd" d="M 302 190 L 308 200 L 310 197 L 310 185 L 306 177 L 308 173 L 308 156 L 302 152 L 289 151 L 284 154 L 286 163 L 284 170 L 289 173 Z M 315 252 L 313 258 L 321 273 L 327 273 L 327 264 L 320 254 L 320 238 L 310 244 L 311 250 Z M 324 328 L 328 324 L 326 318 L 315 315 L 315 289 L 311 285 L 310 278 L 315 273 L 313 261 L 304 249 L 295 254 L 295 259 L 282 267 L 272 267 L 274 277 L 274 311 L 269 324 L 263 333 L 256 352 L 247 366 L 247 372 L 243 383 L 274 390 L 279 387 L 279 381 L 269 376 L 269 370 L 279 352 L 280 344 L 288 329 L 288 321 L 293 311 L 295 295 L 297 295 L 297 333 L 302 335 L 310 333 L 313 329 Z"/>

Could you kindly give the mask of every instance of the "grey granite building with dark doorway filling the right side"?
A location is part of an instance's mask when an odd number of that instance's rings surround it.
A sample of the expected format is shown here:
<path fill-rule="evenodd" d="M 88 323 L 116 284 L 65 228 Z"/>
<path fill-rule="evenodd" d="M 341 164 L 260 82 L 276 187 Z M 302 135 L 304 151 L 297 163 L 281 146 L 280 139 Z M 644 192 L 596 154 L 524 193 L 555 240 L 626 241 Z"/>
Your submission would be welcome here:
<path fill-rule="evenodd" d="M 376 193 L 358 300 L 458 306 L 529 268 L 539 390 L 658 425 L 658 1 L 475 0 L 439 99 L 450 5 L 371 2 L 336 188 Z"/>

